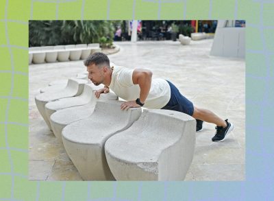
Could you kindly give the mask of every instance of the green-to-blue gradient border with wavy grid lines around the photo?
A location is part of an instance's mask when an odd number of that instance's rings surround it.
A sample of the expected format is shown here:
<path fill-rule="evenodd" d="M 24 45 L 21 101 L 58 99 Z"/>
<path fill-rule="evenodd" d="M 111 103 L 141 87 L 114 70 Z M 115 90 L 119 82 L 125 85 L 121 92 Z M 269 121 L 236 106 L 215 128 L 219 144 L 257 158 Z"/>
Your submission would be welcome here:
<path fill-rule="evenodd" d="M 1 0 L 0 201 L 274 200 L 273 13 L 271 0 Z M 247 20 L 246 181 L 28 181 L 29 19 Z"/>

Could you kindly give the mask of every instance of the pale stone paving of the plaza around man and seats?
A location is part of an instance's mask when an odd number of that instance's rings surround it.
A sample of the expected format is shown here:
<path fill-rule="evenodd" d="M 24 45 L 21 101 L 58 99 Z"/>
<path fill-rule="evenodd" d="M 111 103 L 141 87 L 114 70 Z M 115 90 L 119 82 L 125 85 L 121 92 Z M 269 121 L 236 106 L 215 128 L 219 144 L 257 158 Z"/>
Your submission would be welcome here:
<path fill-rule="evenodd" d="M 182 46 L 172 41 L 116 43 L 109 58 L 129 68 L 147 68 L 153 78 L 171 80 L 196 106 L 234 123 L 222 143 L 213 143 L 214 125 L 204 123 L 186 180 L 245 180 L 245 60 L 209 56 L 212 39 Z M 62 143 L 36 109 L 34 97 L 53 80 L 86 71 L 83 61 L 29 66 L 29 180 L 82 180 Z"/>

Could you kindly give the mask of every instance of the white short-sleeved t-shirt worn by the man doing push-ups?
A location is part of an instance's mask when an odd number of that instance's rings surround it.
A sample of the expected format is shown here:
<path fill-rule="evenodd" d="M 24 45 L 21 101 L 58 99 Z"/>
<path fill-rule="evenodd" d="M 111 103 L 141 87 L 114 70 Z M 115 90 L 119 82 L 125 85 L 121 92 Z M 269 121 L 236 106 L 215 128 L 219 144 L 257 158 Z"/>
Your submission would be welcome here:
<path fill-rule="evenodd" d="M 136 100 L 140 97 L 139 84 L 133 84 L 133 71 L 133 69 L 119 66 L 114 66 L 112 71 L 112 80 L 109 87 L 116 95 L 127 101 Z M 169 83 L 160 78 L 153 79 L 144 107 L 160 109 L 169 102 L 170 98 L 171 88 Z"/>

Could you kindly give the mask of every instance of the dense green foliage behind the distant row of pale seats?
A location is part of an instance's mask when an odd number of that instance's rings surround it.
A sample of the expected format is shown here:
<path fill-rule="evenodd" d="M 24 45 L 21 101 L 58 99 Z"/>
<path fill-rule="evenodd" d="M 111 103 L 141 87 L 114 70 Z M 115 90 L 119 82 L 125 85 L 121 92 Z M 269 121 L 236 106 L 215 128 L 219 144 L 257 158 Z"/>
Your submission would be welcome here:
<path fill-rule="evenodd" d="M 99 43 L 112 45 L 115 25 L 121 21 L 29 21 L 29 47 Z"/>

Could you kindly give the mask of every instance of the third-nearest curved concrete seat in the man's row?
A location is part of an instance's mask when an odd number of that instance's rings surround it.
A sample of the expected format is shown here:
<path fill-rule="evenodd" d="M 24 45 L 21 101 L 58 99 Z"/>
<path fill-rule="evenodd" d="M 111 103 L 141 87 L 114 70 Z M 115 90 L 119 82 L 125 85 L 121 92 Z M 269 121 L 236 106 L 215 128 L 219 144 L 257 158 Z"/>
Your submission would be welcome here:
<path fill-rule="evenodd" d="M 94 93 L 92 93 L 90 96 L 92 99 L 90 99 L 88 104 L 84 104 L 82 106 L 73 106 L 71 108 L 64 108 L 62 110 L 56 111 L 51 115 L 49 121 L 51 123 L 53 133 L 55 137 L 58 138 L 58 140 L 62 141 L 62 130 L 65 126 L 75 121 L 86 119 L 92 115 L 97 100 L 103 101 L 118 99 L 117 95 L 114 93 L 102 93 L 99 99 L 95 97 Z"/>

